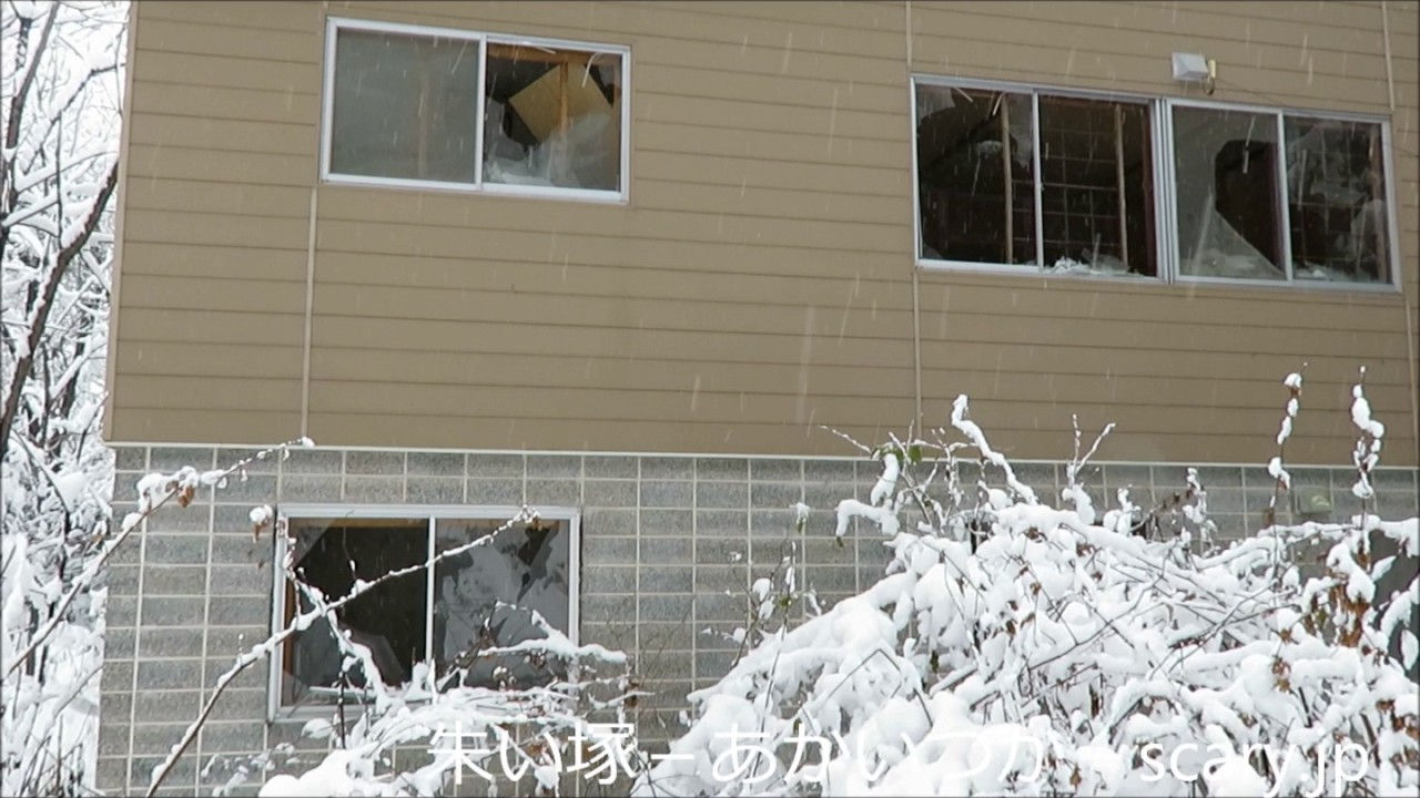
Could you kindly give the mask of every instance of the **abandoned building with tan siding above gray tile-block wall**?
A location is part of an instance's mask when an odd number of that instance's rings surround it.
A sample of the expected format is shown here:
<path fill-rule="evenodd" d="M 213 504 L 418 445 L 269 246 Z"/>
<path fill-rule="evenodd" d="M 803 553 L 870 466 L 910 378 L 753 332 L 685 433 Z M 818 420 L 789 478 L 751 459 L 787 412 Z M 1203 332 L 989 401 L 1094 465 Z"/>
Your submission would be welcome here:
<path fill-rule="evenodd" d="M 876 538 L 831 541 L 876 471 L 825 427 L 878 443 L 967 393 L 1054 488 L 1072 416 L 1115 422 L 1096 500 L 1200 466 L 1235 532 L 1304 361 L 1298 496 L 1355 507 L 1365 365 L 1379 507 L 1414 513 L 1414 11 L 136 1 L 118 501 L 148 470 L 318 447 L 119 554 L 99 787 L 146 785 L 294 606 L 253 504 L 329 585 L 545 508 L 537 545 L 464 572 L 545 575 L 550 618 L 636 653 L 657 711 L 730 662 L 700 630 L 733 626 L 724 591 L 778 562 L 792 504 L 824 596 L 879 574 Z M 459 647 L 462 574 L 389 599 L 417 623 L 349 619 L 382 670 Z M 328 666 L 244 674 L 200 763 L 291 740 Z M 196 761 L 175 794 L 217 778 Z"/>

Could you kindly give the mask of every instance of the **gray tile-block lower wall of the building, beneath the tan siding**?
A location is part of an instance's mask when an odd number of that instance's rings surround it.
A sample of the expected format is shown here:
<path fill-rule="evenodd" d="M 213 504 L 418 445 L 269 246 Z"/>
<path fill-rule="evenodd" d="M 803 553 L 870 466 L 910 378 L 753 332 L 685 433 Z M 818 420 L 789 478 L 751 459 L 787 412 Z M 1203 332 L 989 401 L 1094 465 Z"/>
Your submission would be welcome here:
<path fill-rule="evenodd" d="M 131 511 L 148 471 L 230 466 L 248 450 L 119 449 L 115 515 Z M 1096 507 L 1115 490 L 1152 505 L 1184 486 L 1181 466 L 1098 464 L 1085 470 Z M 834 507 L 865 498 L 873 463 L 747 457 L 636 457 L 444 452 L 301 450 L 256 463 L 246 479 L 206 491 L 187 508 L 156 513 L 115 554 L 108 575 L 108 663 L 102 676 L 99 784 L 129 794 L 178 741 L 243 647 L 266 639 L 271 618 L 273 541 L 253 537 L 254 504 L 565 505 L 582 513 L 581 639 L 633 652 L 645 689 L 638 728 L 650 740 L 677 733 L 686 693 L 713 683 L 736 655 L 714 632 L 744 623 L 743 592 L 767 575 L 788 542 L 804 552 L 802 579 L 824 606 L 882 574 L 882 540 L 855 530 L 838 545 Z M 1058 496 L 1064 467 L 1017 464 L 1042 497 Z M 1355 510 L 1345 469 L 1296 469 L 1299 493 L 1325 496 L 1332 517 Z M 1227 537 L 1255 528 L 1272 496 L 1262 469 L 1201 469 L 1213 518 Z M 998 480 L 995 480 L 998 481 Z M 1376 477 L 1380 513 L 1416 513 L 1416 471 Z M 1102 490 L 1103 488 L 1103 490 Z M 812 508 L 802 532 L 795 503 Z M 1282 503 L 1281 520 L 1292 515 Z M 711 633 L 706 633 L 710 630 Z M 231 757 L 295 740 L 300 723 L 266 723 L 268 669 L 248 669 L 166 782 L 173 795 L 226 780 Z M 202 774 L 219 758 L 212 772 Z M 199 767 L 200 763 L 200 767 Z"/>

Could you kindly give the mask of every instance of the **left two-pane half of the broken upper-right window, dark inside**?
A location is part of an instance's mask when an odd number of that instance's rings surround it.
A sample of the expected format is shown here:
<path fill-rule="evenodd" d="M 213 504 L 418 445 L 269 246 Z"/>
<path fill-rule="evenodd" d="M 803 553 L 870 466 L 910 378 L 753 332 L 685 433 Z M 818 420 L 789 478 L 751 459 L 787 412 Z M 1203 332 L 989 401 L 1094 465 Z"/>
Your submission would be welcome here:
<path fill-rule="evenodd" d="M 923 260 L 1159 274 L 1146 105 L 924 84 L 916 98 Z"/>

